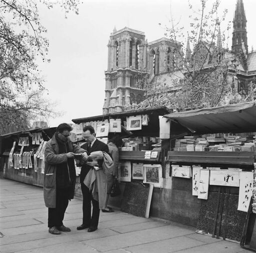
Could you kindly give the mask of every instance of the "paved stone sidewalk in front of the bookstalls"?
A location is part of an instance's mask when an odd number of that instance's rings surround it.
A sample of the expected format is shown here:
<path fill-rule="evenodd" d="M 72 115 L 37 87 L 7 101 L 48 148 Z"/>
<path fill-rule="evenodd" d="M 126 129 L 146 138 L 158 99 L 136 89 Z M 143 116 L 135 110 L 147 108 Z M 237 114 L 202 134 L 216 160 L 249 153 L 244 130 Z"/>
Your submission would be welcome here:
<path fill-rule="evenodd" d="M 77 231 L 82 202 L 69 202 L 69 233 L 48 233 L 42 188 L 0 179 L 1 253 L 245 253 L 239 244 L 195 233 L 195 228 L 140 218 L 115 210 L 100 212 L 98 230 Z"/>

